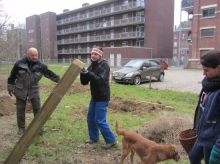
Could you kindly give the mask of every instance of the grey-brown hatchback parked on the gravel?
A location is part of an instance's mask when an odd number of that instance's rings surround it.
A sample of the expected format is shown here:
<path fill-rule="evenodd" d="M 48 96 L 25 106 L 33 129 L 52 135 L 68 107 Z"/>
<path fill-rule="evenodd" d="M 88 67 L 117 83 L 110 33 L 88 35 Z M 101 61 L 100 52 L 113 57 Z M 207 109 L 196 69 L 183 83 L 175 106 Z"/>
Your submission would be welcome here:
<path fill-rule="evenodd" d="M 164 75 L 164 67 L 158 60 L 138 59 L 130 60 L 121 69 L 114 71 L 113 79 L 116 83 L 139 85 L 141 82 L 150 81 L 150 78 L 163 81 Z"/>

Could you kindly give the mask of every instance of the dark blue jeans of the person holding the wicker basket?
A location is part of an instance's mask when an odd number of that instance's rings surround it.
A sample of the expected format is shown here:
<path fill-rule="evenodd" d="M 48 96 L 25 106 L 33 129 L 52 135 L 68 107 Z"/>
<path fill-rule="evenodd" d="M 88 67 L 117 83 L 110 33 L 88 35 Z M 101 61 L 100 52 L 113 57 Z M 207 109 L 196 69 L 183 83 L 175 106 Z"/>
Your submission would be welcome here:
<path fill-rule="evenodd" d="M 212 148 L 198 146 L 197 140 L 196 140 L 192 150 L 189 152 L 190 163 L 191 164 L 201 164 L 201 160 L 204 158 L 205 164 L 209 164 L 209 157 L 210 157 Z"/>

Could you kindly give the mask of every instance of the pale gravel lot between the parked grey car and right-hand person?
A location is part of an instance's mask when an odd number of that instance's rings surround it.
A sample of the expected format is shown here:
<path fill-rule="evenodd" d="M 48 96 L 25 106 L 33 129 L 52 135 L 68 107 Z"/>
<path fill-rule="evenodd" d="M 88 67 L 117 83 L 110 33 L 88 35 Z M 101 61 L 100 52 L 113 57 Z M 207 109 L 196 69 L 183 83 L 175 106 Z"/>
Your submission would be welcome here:
<path fill-rule="evenodd" d="M 168 68 L 165 70 L 164 81 L 154 81 L 151 87 L 199 94 L 203 78 L 201 69 Z M 142 83 L 140 86 L 149 87 L 149 82 Z"/>

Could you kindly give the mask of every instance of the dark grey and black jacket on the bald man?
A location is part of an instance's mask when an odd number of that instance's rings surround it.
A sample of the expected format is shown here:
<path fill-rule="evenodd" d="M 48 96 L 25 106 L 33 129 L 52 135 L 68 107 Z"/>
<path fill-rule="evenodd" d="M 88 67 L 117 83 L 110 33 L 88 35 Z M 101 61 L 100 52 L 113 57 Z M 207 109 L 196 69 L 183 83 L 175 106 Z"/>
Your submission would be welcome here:
<path fill-rule="evenodd" d="M 14 90 L 17 98 L 26 100 L 39 98 L 39 83 L 42 76 L 58 83 L 60 77 L 47 68 L 40 61 L 31 62 L 27 57 L 18 60 L 11 70 L 8 78 L 8 90 Z"/>

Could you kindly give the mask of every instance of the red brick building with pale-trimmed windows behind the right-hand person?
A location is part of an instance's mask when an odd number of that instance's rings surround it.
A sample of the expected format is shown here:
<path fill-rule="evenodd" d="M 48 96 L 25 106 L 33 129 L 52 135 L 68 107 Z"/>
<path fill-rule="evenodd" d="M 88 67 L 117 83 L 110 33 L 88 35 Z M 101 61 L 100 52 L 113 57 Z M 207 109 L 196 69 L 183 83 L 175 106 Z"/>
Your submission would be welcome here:
<path fill-rule="evenodd" d="M 191 39 L 189 67 L 197 67 L 203 53 L 219 49 L 219 7 L 219 0 L 182 0 L 181 10 L 189 16 L 187 23 L 181 25 L 181 29 L 188 29 Z"/>

